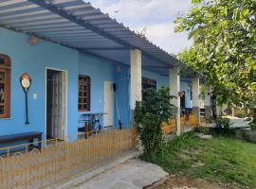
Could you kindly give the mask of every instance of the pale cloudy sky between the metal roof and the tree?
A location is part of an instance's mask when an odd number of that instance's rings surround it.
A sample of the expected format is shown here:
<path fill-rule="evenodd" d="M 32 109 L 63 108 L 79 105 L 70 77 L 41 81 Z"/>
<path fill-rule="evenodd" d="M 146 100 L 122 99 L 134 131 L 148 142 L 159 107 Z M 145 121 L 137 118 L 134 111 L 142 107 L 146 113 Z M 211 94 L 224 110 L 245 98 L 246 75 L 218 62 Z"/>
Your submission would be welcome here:
<path fill-rule="evenodd" d="M 191 0 L 84 0 L 93 7 L 108 13 L 119 23 L 132 30 L 146 28 L 149 41 L 163 50 L 177 54 L 190 47 L 188 33 L 174 32 L 174 19 L 186 14 L 192 7 Z"/>

